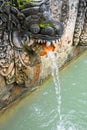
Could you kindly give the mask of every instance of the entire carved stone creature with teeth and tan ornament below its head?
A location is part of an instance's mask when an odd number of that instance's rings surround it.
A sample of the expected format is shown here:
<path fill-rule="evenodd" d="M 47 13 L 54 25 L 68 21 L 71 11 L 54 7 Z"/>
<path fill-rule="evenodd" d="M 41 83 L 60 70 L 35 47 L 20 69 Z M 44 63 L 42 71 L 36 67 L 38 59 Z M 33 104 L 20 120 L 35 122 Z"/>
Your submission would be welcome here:
<path fill-rule="evenodd" d="M 55 46 L 61 37 L 49 6 L 49 0 L 0 0 L 0 75 L 7 84 L 23 84 L 26 68 L 40 62 L 42 44 Z"/>

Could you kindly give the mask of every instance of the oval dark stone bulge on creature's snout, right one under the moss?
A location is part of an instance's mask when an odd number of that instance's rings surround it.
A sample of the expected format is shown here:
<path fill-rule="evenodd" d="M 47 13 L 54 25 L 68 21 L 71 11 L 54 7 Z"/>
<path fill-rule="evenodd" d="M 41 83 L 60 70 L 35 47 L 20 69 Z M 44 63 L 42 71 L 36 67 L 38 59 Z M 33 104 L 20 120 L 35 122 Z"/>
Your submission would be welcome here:
<path fill-rule="evenodd" d="M 41 33 L 44 34 L 44 35 L 54 35 L 55 32 L 54 32 L 54 29 L 50 26 L 45 26 L 42 30 L 41 30 Z"/>

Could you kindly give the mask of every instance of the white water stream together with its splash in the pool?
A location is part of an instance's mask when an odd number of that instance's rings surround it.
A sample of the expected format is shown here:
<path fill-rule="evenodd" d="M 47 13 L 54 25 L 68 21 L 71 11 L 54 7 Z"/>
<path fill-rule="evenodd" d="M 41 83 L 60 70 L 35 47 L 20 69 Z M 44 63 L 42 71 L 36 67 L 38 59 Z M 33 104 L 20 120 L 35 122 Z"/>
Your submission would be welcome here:
<path fill-rule="evenodd" d="M 52 71 L 52 77 L 55 84 L 55 92 L 56 92 L 56 100 L 57 100 L 57 112 L 59 116 L 58 124 L 57 124 L 57 130 L 77 130 L 77 128 L 68 121 L 68 118 L 65 117 L 65 119 L 62 118 L 61 113 L 61 87 L 59 82 L 59 68 L 57 65 L 57 59 L 54 54 L 54 52 L 49 51 L 47 53 L 49 61 L 51 62 L 51 71 Z"/>

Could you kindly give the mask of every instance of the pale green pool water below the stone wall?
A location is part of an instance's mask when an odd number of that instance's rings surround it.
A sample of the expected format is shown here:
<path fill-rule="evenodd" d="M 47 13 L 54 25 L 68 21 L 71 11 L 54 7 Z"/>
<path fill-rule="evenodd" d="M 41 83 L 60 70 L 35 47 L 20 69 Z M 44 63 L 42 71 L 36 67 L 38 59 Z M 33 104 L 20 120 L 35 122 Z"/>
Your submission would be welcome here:
<path fill-rule="evenodd" d="M 61 129 L 87 130 L 87 52 L 59 73 Z M 0 115 L 0 130 L 58 130 L 55 85 L 52 79 Z"/>

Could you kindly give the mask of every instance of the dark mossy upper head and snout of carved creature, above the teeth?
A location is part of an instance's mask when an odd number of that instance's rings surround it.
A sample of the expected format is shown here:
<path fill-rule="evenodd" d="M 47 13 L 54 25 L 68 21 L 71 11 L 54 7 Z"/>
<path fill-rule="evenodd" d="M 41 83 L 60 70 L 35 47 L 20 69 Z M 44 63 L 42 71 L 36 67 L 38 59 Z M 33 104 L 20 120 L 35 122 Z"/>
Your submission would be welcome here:
<path fill-rule="evenodd" d="M 39 41 L 58 40 L 63 33 L 63 25 L 50 18 L 49 0 L 0 0 L 4 15 L 9 17 L 12 30 L 27 34 Z M 9 18 L 7 18 L 9 20 Z"/>

